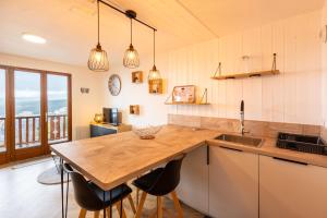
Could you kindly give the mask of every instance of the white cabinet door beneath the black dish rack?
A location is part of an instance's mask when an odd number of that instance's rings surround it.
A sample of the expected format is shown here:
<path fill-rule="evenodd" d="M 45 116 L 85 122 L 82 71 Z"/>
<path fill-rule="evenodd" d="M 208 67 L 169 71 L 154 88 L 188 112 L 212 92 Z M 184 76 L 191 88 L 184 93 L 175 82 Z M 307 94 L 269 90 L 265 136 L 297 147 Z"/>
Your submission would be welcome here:
<path fill-rule="evenodd" d="M 261 218 L 326 218 L 327 169 L 259 157 Z"/>

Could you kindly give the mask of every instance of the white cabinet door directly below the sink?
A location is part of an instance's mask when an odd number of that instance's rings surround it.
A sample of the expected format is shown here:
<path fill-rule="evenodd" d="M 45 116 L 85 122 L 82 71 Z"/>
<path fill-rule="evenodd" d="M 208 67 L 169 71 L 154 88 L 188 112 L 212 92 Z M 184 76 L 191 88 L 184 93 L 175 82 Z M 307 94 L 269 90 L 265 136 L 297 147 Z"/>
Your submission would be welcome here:
<path fill-rule="evenodd" d="M 258 217 L 258 155 L 210 147 L 209 215 Z"/>

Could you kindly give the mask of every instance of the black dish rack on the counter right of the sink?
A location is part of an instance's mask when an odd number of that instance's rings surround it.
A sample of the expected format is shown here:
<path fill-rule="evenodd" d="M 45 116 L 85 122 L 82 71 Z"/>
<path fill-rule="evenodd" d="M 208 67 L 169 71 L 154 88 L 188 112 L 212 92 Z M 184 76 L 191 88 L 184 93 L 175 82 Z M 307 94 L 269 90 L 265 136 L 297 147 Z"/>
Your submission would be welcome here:
<path fill-rule="evenodd" d="M 278 133 L 277 147 L 302 153 L 327 155 L 326 142 L 319 136 Z"/>

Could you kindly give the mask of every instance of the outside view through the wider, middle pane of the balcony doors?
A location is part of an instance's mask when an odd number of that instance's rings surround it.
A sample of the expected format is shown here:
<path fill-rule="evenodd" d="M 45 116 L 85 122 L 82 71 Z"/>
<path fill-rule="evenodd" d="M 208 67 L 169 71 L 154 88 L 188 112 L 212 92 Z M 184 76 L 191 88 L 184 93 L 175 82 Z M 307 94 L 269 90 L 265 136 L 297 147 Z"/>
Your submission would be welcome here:
<path fill-rule="evenodd" d="M 14 72 L 15 147 L 40 145 L 40 74 Z"/>

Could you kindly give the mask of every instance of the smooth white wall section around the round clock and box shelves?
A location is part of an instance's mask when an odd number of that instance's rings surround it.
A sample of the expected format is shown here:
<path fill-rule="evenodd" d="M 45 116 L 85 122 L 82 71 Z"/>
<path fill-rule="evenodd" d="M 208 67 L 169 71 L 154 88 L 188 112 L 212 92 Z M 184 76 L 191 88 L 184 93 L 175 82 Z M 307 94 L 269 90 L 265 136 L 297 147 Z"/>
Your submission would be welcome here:
<path fill-rule="evenodd" d="M 157 64 L 164 77 L 167 77 L 168 56 L 159 55 Z M 123 66 L 112 68 L 110 72 L 104 75 L 105 106 L 117 107 L 123 113 L 123 122 L 136 126 L 167 123 L 168 108 L 164 105 L 167 95 L 167 87 L 164 95 L 153 95 L 148 93 L 147 75 L 153 66 L 153 59 L 141 57 L 138 69 L 129 70 Z M 144 82 L 142 84 L 132 83 L 132 72 L 141 70 L 144 72 Z M 111 96 L 108 90 L 108 80 L 111 74 L 119 74 L 122 81 L 122 89 L 119 96 Z M 164 84 L 167 84 L 165 80 Z M 140 116 L 129 114 L 130 105 L 140 105 Z"/>

